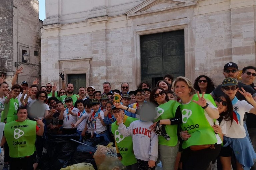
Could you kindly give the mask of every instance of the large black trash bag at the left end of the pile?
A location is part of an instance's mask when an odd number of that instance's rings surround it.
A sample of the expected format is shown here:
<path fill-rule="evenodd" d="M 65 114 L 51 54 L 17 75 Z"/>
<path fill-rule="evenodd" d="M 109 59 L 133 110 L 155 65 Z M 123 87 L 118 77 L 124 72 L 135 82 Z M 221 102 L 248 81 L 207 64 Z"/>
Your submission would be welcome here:
<path fill-rule="evenodd" d="M 79 140 L 79 136 L 75 134 L 49 134 L 46 144 L 49 160 L 43 164 L 42 170 L 59 170 L 68 165 L 72 165 L 71 161 L 76 150 L 77 143 L 70 139 Z"/>

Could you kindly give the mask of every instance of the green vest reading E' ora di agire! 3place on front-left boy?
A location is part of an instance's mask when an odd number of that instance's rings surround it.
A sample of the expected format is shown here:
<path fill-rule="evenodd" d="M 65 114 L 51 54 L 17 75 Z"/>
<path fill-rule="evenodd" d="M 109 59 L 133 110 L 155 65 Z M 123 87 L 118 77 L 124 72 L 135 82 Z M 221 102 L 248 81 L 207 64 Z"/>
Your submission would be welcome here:
<path fill-rule="evenodd" d="M 4 135 L 10 148 L 10 157 L 33 155 L 36 150 L 36 121 L 12 121 L 5 125 Z"/>

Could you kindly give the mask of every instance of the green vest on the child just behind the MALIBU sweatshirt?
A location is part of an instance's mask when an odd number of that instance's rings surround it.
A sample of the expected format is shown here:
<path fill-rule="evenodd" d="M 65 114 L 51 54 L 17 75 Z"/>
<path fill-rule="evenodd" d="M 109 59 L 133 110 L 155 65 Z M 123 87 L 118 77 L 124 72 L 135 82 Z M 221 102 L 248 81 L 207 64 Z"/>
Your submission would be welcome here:
<path fill-rule="evenodd" d="M 124 125 L 126 127 L 129 127 L 130 124 L 133 121 L 136 121 L 138 119 L 127 117 Z M 133 153 L 133 145 L 132 145 L 132 136 L 124 137 L 121 133 L 118 131 L 117 122 L 113 122 L 111 125 L 111 131 L 115 135 L 115 141 L 117 144 L 117 147 L 119 149 L 120 154 L 122 155 L 122 164 L 125 166 L 132 165 L 137 163 L 137 159 L 135 158 L 135 155 Z"/>

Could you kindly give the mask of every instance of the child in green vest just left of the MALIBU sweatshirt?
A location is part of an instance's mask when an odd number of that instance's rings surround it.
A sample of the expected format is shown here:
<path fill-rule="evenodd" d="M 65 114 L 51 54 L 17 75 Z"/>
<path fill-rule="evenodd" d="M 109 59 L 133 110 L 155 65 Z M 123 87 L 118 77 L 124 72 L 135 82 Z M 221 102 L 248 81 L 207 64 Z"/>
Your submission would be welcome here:
<path fill-rule="evenodd" d="M 136 118 L 128 117 L 124 114 L 123 109 L 116 108 L 114 105 L 111 108 L 112 114 L 115 118 L 120 114 L 123 124 L 129 127 Z M 119 124 L 117 121 L 113 122 L 111 125 L 111 131 L 115 135 L 115 146 L 117 150 L 118 159 L 121 160 L 122 164 L 126 166 L 127 170 L 138 170 L 137 159 L 133 153 L 133 143 L 132 137 L 124 137 L 118 131 Z"/>

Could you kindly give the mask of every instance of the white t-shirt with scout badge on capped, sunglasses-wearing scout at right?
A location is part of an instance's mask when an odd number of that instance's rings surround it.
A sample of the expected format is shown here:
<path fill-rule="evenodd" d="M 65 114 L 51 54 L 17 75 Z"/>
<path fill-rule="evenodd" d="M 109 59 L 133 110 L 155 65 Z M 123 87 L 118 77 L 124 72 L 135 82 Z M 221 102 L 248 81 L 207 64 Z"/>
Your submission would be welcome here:
<path fill-rule="evenodd" d="M 233 120 L 231 127 L 231 121 L 226 122 L 227 134 L 225 136 L 231 138 L 244 138 L 246 136 L 243 122 L 244 114 L 245 112 L 250 113 L 252 108 L 253 106 L 245 100 L 238 100 L 237 103 L 233 105 L 233 109 L 240 115 L 240 121 L 237 123 Z"/>

